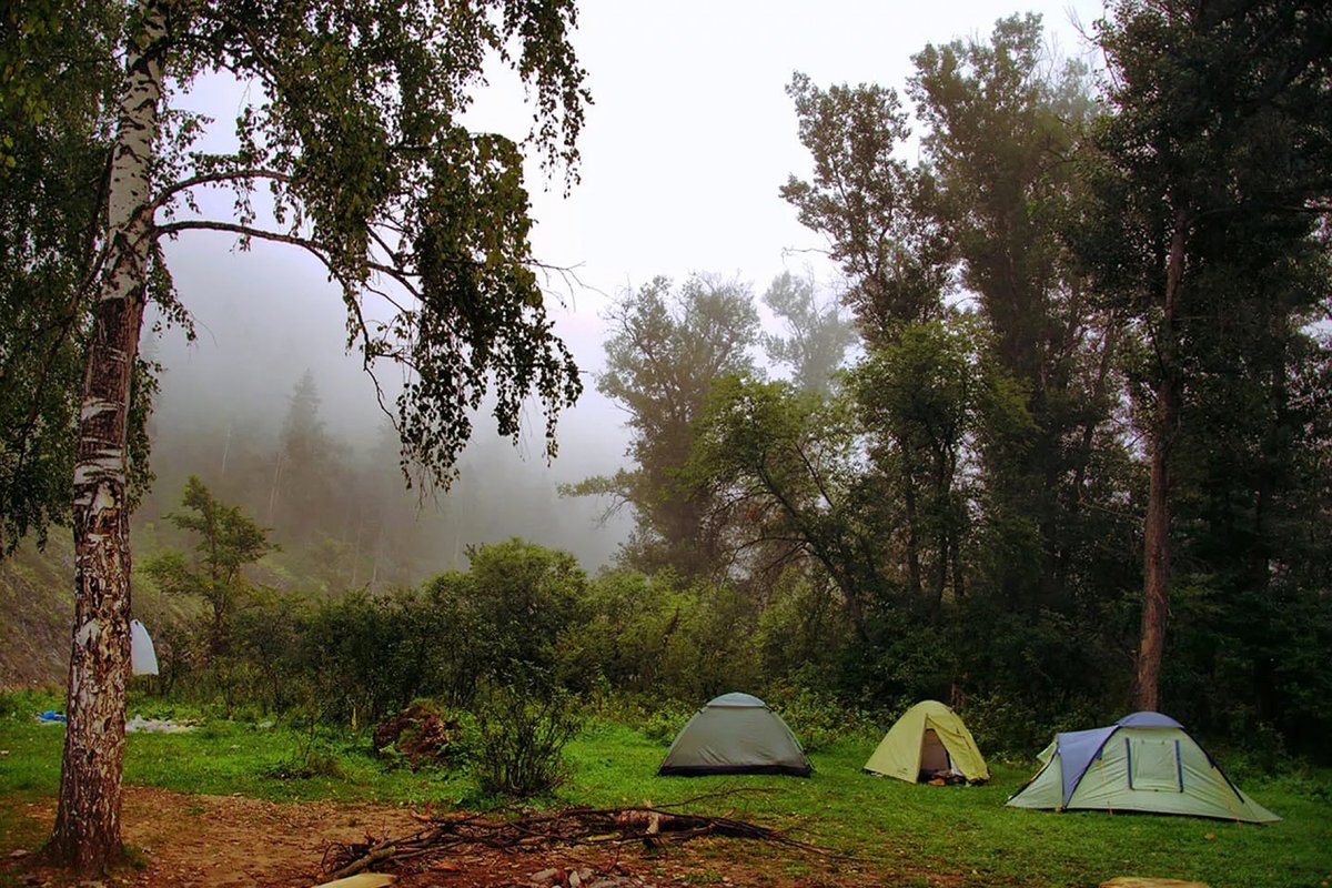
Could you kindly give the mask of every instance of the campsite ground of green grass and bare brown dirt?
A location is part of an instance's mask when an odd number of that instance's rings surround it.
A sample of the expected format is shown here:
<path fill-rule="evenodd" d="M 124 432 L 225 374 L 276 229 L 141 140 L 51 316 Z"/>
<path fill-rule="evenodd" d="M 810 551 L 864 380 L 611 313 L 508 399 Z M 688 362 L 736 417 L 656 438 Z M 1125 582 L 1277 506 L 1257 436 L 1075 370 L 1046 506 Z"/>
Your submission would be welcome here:
<path fill-rule="evenodd" d="M 0 718 L 0 885 L 55 879 L 16 849 L 49 832 L 63 730 L 31 715 Z M 569 780 L 542 807 L 678 801 L 766 825 L 827 848 L 819 857 L 746 840 L 642 847 L 466 853 L 409 876 L 416 885 L 526 885 L 547 868 L 589 868 L 623 885 L 1095 885 L 1114 876 L 1199 880 L 1215 888 L 1332 884 L 1332 774 L 1288 768 L 1264 777 L 1237 768 L 1244 788 L 1283 817 L 1271 827 L 1189 817 L 1052 815 L 1004 799 L 1031 764 L 992 762 L 984 787 L 934 788 L 860 774 L 867 742 L 811 755 L 797 777 L 654 777 L 663 747 L 627 727 L 593 722 L 570 744 Z M 304 762 L 304 776 L 288 776 Z M 310 767 L 310 766 L 314 767 Z M 1223 764 L 1225 764 L 1223 759 Z M 458 774 L 385 771 L 357 738 L 310 738 L 281 726 L 209 722 L 180 735 L 128 739 L 128 841 L 137 885 L 302 885 L 317 881 L 334 841 L 401 835 L 432 803 L 478 809 Z M 758 791 L 755 791 L 758 789 Z M 848 856 L 836 856 L 848 855 Z"/>

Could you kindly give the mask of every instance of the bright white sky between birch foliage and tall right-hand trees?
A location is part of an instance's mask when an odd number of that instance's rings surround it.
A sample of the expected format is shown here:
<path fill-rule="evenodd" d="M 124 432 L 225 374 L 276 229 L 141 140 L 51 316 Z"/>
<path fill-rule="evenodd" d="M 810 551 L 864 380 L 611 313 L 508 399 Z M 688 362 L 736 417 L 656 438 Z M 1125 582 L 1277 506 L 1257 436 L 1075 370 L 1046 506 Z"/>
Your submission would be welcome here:
<path fill-rule="evenodd" d="M 810 162 L 786 84 L 878 83 L 904 93 L 911 56 L 927 43 L 988 37 L 1015 12 L 1043 16 L 1064 56 L 1086 56 L 1099 0 L 674 0 L 579 3 L 575 36 L 594 105 L 582 138 L 582 182 L 531 182 L 534 246 L 546 262 L 578 265 L 562 329 L 581 363 L 601 365 L 597 313 L 605 296 L 655 274 L 713 272 L 762 293 L 799 272 L 823 241 L 778 196 Z M 1095 59 L 1092 59 L 1095 63 Z M 501 89 L 496 91 L 497 93 Z M 903 95 L 903 101 L 910 101 Z M 478 122 L 521 128 L 523 113 L 482 107 Z M 533 170 L 535 173 L 537 170 Z M 603 296 L 605 294 L 605 296 Z"/>

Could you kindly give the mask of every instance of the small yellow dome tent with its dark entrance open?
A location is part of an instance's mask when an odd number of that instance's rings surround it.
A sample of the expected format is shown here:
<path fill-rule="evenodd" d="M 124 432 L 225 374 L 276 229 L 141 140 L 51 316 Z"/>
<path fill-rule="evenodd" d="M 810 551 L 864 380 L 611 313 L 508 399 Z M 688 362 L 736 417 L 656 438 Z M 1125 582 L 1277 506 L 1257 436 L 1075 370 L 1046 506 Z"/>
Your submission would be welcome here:
<path fill-rule="evenodd" d="M 888 728 L 864 770 L 915 783 L 922 774 L 960 774 L 968 783 L 990 779 L 984 756 L 958 714 L 938 700 L 916 703 Z"/>

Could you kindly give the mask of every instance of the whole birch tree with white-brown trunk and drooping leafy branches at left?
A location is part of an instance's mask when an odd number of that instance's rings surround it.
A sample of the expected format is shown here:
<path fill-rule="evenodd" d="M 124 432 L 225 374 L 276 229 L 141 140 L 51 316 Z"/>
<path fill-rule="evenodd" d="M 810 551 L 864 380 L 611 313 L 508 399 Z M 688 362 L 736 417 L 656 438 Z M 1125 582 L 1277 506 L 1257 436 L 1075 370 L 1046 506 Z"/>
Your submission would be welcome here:
<path fill-rule="evenodd" d="M 420 477 L 452 477 L 488 395 L 498 431 L 511 437 L 534 395 L 554 453 L 555 418 L 581 385 L 542 306 L 523 145 L 473 133 L 461 116 L 486 67 L 507 64 L 534 105 L 527 145 L 547 170 L 571 170 L 589 95 L 569 41 L 571 0 L 39 5 L 51 23 L 96 33 L 80 48 L 119 65 L 116 100 L 89 103 L 101 118 L 85 129 L 105 176 L 92 189 L 91 249 L 63 293 L 71 314 L 85 318 L 87 345 L 71 514 L 69 727 L 51 847 L 92 872 L 121 853 L 135 469 L 127 439 L 143 394 L 139 338 L 151 302 L 188 322 L 164 242 L 222 232 L 241 248 L 261 240 L 317 257 L 341 289 L 348 347 L 370 370 L 382 361 L 406 367 L 386 409 Z M 20 63 L 29 33 L 5 40 Z M 205 75 L 246 85 L 234 146 L 221 153 L 201 146 L 212 121 L 177 107 Z M 56 121 L 64 124 L 73 125 Z M 233 209 L 205 212 L 217 202 L 202 200 L 210 189 L 229 192 Z"/>

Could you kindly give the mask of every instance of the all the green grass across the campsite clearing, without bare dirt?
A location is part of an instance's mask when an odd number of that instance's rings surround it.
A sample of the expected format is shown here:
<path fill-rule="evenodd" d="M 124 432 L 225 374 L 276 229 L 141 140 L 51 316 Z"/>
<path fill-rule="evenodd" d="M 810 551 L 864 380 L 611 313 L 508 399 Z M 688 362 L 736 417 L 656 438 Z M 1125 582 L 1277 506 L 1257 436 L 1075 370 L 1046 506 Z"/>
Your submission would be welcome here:
<path fill-rule="evenodd" d="M 37 699 L 28 703 L 36 704 Z M 13 708 L 13 707 L 11 707 Z M 45 708 L 45 707 L 43 707 Z M 35 710 L 33 710 L 35 711 Z M 56 792 L 63 730 L 27 712 L 0 710 L 0 855 L 39 836 L 16 813 Z M 983 787 L 910 785 L 860 772 L 872 742 L 842 740 L 810 758 L 809 779 L 777 776 L 657 777 L 665 747 L 618 724 L 593 722 L 566 754 L 569 780 L 537 804 L 657 804 L 730 789 L 762 788 L 701 803 L 697 809 L 774 824 L 793 837 L 851 852 L 850 869 L 892 884 L 1063 887 L 1114 876 L 1151 875 L 1204 881 L 1213 888 L 1321 888 L 1332 881 L 1332 774 L 1297 771 L 1249 777 L 1244 788 L 1284 821 L 1269 827 L 1191 817 L 1047 813 L 1004 807 L 1030 768 L 991 763 Z M 313 748 L 317 755 L 306 758 Z M 324 763 L 314 776 L 278 776 L 298 762 Z M 465 774 L 389 770 L 364 740 L 277 726 L 209 722 L 184 735 L 129 735 L 125 780 L 180 792 L 242 793 L 277 800 L 345 799 L 434 801 L 489 807 Z M 27 843 L 27 844 L 25 844 Z M 709 884 L 726 872 L 733 849 L 703 851 L 693 879 Z M 799 877 L 798 855 L 750 849 L 753 865 Z M 707 855 L 715 855 L 707 857 Z"/>

